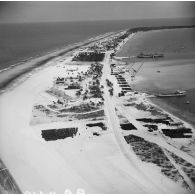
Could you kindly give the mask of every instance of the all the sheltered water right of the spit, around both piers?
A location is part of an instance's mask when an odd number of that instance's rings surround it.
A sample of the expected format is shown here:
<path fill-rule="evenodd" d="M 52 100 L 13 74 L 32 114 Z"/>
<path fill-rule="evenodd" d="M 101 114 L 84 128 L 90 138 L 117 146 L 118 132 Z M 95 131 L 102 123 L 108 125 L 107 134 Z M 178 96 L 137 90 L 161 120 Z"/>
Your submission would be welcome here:
<path fill-rule="evenodd" d="M 162 52 L 159 60 L 129 60 L 138 67 L 144 62 L 133 84 L 135 90 L 149 94 L 173 93 L 186 90 L 186 96 L 151 98 L 167 111 L 190 122 L 195 127 L 195 28 L 141 32 L 118 53 L 119 56 L 140 52 Z M 189 101 L 190 104 L 186 104 Z"/>

